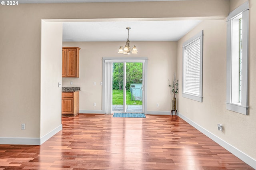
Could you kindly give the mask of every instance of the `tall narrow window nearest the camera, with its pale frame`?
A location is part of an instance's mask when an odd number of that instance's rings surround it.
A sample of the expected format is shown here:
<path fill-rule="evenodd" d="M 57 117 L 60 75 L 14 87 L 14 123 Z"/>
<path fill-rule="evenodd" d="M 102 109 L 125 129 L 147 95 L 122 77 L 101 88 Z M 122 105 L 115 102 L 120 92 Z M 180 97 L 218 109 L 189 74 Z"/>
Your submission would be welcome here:
<path fill-rule="evenodd" d="M 227 18 L 226 108 L 248 115 L 248 2 Z"/>

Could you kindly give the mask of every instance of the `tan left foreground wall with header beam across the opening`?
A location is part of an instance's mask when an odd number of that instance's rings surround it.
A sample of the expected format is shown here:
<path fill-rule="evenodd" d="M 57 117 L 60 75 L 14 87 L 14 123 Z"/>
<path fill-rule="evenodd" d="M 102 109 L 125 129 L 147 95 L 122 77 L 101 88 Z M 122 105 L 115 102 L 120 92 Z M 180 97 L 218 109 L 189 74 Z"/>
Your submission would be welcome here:
<path fill-rule="evenodd" d="M 0 137 L 38 138 L 43 135 L 39 130 L 42 19 L 228 15 L 227 0 L 200 2 L 204 8 L 198 1 L 1 5 L 0 128 L 6 130 L 0 131 Z M 123 12 L 124 6 L 130 12 Z M 21 123 L 26 123 L 26 130 L 20 130 Z"/>

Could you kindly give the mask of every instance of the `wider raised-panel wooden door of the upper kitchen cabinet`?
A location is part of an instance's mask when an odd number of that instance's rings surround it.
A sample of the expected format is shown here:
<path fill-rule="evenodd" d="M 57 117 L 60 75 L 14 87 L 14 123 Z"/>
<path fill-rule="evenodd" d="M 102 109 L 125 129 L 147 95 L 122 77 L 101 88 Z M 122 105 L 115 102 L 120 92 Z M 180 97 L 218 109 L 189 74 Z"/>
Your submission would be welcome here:
<path fill-rule="evenodd" d="M 66 77 L 76 77 L 76 49 L 67 49 Z"/>

